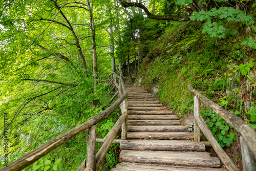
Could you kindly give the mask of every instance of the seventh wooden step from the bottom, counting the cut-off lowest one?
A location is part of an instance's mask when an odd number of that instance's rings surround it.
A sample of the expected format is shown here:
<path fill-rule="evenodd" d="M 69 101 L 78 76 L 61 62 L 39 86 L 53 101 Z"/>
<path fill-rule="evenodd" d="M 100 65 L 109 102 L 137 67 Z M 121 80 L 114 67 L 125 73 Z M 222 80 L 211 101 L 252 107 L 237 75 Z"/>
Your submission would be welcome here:
<path fill-rule="evenodd" d="M 174 120 L 177 115 L 128 115 L 128 120 Z"/>

